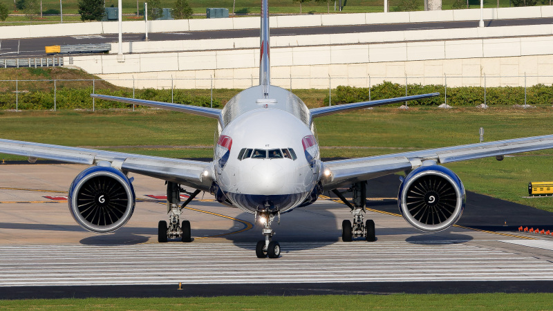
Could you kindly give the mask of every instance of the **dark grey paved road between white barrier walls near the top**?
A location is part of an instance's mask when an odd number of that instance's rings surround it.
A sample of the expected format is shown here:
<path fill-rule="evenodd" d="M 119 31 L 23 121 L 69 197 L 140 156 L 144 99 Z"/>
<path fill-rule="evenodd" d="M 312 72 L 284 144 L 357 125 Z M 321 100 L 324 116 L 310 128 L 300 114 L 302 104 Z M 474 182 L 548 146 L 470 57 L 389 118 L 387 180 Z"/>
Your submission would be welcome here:
<path fill-rule="evenodd" d="M 498 26 L 521 26 L 521 25 L 542 25 L 553 23 L 553 18 L 537 19 L 499 19 L 494 21 L 485 21 L 487 27 Z M 357 26 L 321 26 L 304 28 L 274 28 L 271 29 L 271 35 L 291 36 L 291 35 L 321 35 L 321 34 L 339 34 L 339 33 L 357 33 L 357 32 L 385 32 L 398 30 L 422 30 L 422 29 L 449 29 L 449 28 L 474 28 L 478 27 L 478 21 L 444 21 L 431 23 L 391 23 L 377 25 L 357 25 Z M 212 31 L 193 31 L 193 32 L 169 32 L 169 33 L 150 33 L 150 41 L 165 40 L 197 40 L 197 39 L 221 39 L 221 38 L 243 38 L 259 37 L 258 29 L 246 30 L 212 30 Z M 92 35 L 92 36 L 66 36 L 66 37 L 46 37 L 32 39 L 3 39 L 0 46 L 1 58 L 15 57 L 38 57 L 45 56 L 44 46 L 70 45 L 70 44 L 99 44 L 106 42 L 115 42 L 118 35 Z M 143 41 L 144 34 L 124 34 L 124 41 Z M 18 53 L 19 51 L 19 53 Z"/>

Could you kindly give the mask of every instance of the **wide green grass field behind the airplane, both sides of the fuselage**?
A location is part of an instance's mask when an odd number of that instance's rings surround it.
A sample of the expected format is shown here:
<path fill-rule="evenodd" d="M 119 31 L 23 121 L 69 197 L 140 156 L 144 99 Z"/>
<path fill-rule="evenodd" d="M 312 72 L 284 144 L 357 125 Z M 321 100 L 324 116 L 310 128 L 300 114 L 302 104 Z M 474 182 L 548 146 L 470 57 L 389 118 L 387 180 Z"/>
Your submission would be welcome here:
<path fill-rule="evenodd" d="M 553 109 L 487 110 L 394 107 L 341 113 L 315 121 L 321 156 L 356 158 L 478 142 L 551 134 Z M 0 138 L 68 146 L 98 147 L 171 158 L 211 158 L 216 121 L 143 109 L 91 111 L 3 111 Z M 78 135 L 75 135 L 78 133 Z M 185 146 L 149 148 L 142 145 Z M 113 148 L 113 146 L 125 146 Z M 24 160 L 0 155 L 0 159 Z M 529 181 L 550 181 L 553 151 L 534 151 L 498 162 L 494 158 L 447 164 L 469 191 L 553 211 L 553 198 L 527 196 Z"/>

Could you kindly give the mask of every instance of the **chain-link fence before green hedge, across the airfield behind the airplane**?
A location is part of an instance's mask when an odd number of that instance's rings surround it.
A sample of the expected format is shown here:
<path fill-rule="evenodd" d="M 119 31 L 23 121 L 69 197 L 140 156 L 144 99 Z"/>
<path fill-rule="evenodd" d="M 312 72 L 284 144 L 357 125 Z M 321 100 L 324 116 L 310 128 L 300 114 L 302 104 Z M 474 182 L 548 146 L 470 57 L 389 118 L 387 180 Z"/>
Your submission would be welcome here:
<path fill-rule="evenodd" d="M 414 104 L 551 105 L 552 82 L 553 76 L 545 75 L 272 78 L 272 84 L 298 95 L 315 93 L 316 103 L 308 106 L 433 92 L 440 93 L 440 97 Z M 223 87 L 231 83 L 232 88 Z M 0 80 L 0 109 L 135 109 L 129 104 L 95 100 L 91 93 L 221 108 L 236 93 L 257 84 L 259 80 L 254 76 L 241 79 L 10 79 Z"/>

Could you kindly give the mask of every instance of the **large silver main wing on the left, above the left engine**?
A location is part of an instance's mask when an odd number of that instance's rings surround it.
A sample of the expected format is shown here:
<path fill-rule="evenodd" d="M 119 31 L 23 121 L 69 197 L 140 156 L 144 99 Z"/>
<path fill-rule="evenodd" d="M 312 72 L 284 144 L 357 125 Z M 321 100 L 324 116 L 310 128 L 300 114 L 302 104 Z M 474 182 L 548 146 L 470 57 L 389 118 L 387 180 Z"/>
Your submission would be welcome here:
<path fill-rule="evenodd" d="M 109 162 L 112 167 L 124 172 L 178 182 L 203 191 L 209 191 L 212 185 L 212 180 L 209 177 L 211 174 L 204 175 L 206 170 L 211 171 L 211 162 L 2 139 L 0 139 L 0 153 L 26 156 L 31 161 L 36 160 L 36 158 L 43 158 L 88 165 L 102 164 L 102 162 L 108 164 Z"/>

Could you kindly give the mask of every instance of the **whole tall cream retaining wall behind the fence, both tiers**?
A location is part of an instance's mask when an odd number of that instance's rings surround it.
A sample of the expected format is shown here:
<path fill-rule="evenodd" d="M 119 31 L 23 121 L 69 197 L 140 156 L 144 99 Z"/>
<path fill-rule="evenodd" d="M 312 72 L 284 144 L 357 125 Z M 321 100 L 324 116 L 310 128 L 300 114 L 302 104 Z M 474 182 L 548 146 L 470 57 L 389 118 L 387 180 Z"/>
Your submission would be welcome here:
<path fill-rule="evenodd" d="M 480 86 L 487 75 L 488 86 L 520 86 L 553 83 L 553 37 L 406 41 L 400 43 L 290 46 L 272 48 L 272 83 L 289 88 L 328 88 L 348 84 L 367 86 L 384 80 L 404 83 Z M 125 55 L 64 57 L 72 64 L 121 86 L 205 88 L 210 79 L 218 88 L 245 88 L 256 84 L 259 48 L 183 51 Z M 549 75 L 549 77 L 547 77 Z M 463 76 L 460 78 L 460 76 Z M 494 78 L 494 76 L 496 78 Z M 497 78 L 498 76 L 504 76 Z M 416 77 L 416 78 L 415 78 Z M 457 78 L 459 77 L 459 78 Z M 167 79 L 142 82 L 141 79 Z M 188 80 L 180 80 L 187 78 Z"/>

